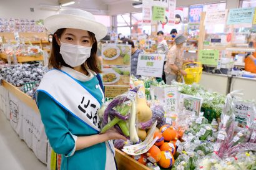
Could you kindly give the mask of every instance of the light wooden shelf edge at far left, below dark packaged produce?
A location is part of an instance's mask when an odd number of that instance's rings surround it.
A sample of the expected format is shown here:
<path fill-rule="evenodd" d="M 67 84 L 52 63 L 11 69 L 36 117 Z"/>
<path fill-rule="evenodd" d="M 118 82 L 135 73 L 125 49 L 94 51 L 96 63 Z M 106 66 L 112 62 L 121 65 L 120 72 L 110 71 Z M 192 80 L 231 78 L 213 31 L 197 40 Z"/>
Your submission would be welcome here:
<path fill-rule="evenodd" d="M 19 90 L 19 88 L 15 87 L 11 83 L 6 82 L 5 80 L 2 80 L 2 86 L 6 88 L 6 90 L 9 90 L 9 92 L 11 92 L 12 95 L 15 95 L 19 100 L 21 100 L 27 106 L 30 106 L 34 111 L 36 111 L 36 113 L 39 114 L 36 101 L 33 100 L 29 95 L 22 92 L 21 90 Z"/>

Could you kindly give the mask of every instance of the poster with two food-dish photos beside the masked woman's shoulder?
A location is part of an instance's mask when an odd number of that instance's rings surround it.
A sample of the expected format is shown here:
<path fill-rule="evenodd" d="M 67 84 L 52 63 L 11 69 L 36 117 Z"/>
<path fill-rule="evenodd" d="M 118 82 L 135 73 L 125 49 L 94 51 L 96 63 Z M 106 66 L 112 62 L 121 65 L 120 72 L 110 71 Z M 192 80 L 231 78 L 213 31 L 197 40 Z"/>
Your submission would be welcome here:
<path fill-rule="evenodd" d="M 130 86 L 131 45 L 102 44 L 102 80 L 107 98 L 127 92 Z"/>

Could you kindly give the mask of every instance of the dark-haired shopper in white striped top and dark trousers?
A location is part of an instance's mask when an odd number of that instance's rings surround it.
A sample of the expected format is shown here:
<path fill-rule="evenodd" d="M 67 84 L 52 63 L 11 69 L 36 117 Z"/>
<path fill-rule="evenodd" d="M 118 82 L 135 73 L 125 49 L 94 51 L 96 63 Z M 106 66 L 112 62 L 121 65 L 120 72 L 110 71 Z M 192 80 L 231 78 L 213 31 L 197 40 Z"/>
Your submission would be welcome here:
<path fill-rule="evenodd" d="M 165 61 L 166 61 L 167 60 L 166 55 L 169 52 L 169 47 L 167 45 L 166 40 L 164 39 L 164 32 L 162 32 L 162 31 L 157 32 L 157 38 L 158 38 L 157 52 L 159 54 L 164 54 L 165 55 Z M 165 65 L 165 62 L 164 62 L 164 65 Z M 163 73 L 162 73 L 162 80 L 164 80 L 164 82 L 166 83 L 164 69 L 163 69 Z"/>

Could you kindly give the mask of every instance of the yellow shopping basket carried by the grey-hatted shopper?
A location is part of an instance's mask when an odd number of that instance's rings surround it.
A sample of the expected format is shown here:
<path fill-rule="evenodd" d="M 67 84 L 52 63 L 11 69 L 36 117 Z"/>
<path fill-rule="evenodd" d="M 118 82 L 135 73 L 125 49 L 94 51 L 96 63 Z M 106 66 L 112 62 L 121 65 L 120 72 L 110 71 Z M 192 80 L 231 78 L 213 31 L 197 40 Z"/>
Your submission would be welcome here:
<path fill-rule="evenodd" d="M 202 75 L 202 64 L 200 62 L 189 62 L 183 65 L 183 70 L 187 73 L 184 76 L 185 84 L 199 83 Z"/>

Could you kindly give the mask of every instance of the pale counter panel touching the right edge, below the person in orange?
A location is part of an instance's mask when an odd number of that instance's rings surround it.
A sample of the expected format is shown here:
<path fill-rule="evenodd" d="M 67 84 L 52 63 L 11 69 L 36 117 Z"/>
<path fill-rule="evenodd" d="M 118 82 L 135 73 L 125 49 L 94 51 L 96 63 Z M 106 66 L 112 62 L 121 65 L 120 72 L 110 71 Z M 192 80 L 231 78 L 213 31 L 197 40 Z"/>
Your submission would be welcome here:
<path fill-rule="evenodd" d="M 242 90 L 245 100 L 256 101 L 256 78 L 232 77 L 230 91 Z"/>

